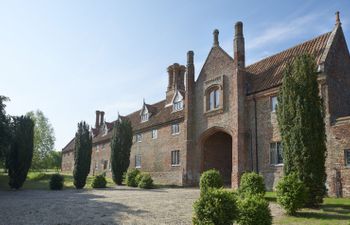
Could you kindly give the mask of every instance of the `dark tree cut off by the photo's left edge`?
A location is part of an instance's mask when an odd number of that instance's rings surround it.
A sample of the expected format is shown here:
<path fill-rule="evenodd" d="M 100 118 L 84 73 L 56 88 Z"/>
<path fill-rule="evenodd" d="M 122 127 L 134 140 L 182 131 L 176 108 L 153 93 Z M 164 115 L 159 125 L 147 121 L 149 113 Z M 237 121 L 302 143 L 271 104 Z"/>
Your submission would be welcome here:
<path fill-rule="evenodd" d="M 0 160 L 3 161 L 11 142 L 10 117 L 6 115 L 5 102 L 9 98 L 0 95 Z"/>

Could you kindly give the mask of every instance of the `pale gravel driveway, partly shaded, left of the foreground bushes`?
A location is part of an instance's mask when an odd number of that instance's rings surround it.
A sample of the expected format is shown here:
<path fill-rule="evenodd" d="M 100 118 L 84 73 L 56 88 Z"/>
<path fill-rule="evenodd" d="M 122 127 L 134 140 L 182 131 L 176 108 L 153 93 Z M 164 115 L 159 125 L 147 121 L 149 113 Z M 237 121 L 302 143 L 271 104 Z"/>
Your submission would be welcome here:
<path fill-rule="evenodd" d="M 192 188 L 0 191 L 0 224 L 191 224 L 198 197 Z"/>

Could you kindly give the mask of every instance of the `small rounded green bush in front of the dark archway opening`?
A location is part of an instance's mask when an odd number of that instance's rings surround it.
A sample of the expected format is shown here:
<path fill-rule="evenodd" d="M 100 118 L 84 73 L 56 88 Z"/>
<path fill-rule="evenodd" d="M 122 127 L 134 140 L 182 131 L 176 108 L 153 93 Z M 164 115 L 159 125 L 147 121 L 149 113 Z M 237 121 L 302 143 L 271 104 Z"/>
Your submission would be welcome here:
<path fill-rule="evenodd" d="M 210 188 L 222 188 L 224 182 L 219 171 L 210 169 L 202 173 L 199 186 L 201 193 L 205 193 Z"/>

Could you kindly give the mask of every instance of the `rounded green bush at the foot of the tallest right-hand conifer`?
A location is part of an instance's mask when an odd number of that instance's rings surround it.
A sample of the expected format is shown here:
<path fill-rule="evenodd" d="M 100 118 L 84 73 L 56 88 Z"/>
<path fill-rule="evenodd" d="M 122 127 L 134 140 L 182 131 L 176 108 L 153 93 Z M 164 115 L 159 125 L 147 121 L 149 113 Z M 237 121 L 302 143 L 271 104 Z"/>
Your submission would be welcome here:
<path fill-rule="evenodd" d="M 296 173 L 283 177 L 276 187 L 277 202 L 289 215 L 302 208 L 307 198 L 305 185 Z"/>

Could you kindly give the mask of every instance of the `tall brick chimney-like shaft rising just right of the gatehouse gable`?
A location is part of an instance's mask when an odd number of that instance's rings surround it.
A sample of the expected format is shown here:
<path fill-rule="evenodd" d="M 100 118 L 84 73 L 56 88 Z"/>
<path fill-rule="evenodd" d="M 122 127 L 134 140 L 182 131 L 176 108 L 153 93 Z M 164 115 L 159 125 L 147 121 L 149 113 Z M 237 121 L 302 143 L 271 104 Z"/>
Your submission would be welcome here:
<path fill-rule="evenodd" d="M 245 48 L 244 48 L 244 37 L 243 37 L 243 23 L 237 22 L 235 24 L 235 38 L 233 41 L 233 59 L 235 64 L 240 67 L 245 67 Z"/>

